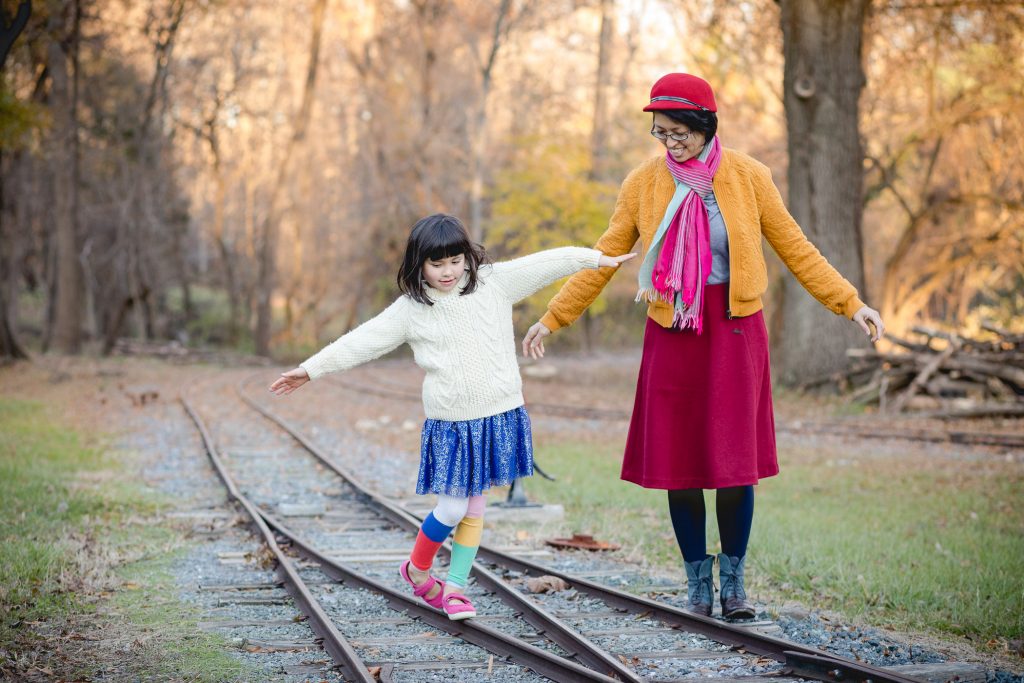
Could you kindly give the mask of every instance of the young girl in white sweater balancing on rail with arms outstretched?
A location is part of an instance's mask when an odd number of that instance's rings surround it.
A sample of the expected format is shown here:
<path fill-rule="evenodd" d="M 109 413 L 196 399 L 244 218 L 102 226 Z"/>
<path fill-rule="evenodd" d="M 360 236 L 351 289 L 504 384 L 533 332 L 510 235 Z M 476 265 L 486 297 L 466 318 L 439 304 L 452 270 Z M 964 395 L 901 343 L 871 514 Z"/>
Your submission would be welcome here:
<path fill-rule="evenodd" d="M 463 594 L 483 530 L 484 492 L 534 473 L 529 417 L 523 408 L 512 305 L 583 268 L 617 267 L 609 257 L 562 247 L 490 264 L 458 218 L 434 214 L 413 226 L 398 271 L 402 296 L 328 345 L 270 391 L 289 394 L 311 379 L 349 370 L 408 343 L 426 371 L 420 475 L 416 493 L 436 494 L 398 571 L 413 594 L 452 620 L 476 615 Z M 430 575 L 455 529 L 447 581 Z"/>

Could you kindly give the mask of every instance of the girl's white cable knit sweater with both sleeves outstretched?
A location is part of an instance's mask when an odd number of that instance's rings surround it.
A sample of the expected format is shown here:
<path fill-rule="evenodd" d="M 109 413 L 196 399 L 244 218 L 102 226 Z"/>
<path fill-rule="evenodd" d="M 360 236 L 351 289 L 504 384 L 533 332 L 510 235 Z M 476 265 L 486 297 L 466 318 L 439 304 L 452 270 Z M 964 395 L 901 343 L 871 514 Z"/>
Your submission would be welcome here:
<path fill-rule="evenodd" d="M 349 370 L 403 343 L 426 371 L 423 410 L 437 420 L 475 420 L 523 404 L 512 305 L 551 283 L 598 267 L 601 252 L 561 247 L 481 266 L 472 294 L 427 287 L 433 305 L 399 297 L 300 364 L 310 379 Z"/>

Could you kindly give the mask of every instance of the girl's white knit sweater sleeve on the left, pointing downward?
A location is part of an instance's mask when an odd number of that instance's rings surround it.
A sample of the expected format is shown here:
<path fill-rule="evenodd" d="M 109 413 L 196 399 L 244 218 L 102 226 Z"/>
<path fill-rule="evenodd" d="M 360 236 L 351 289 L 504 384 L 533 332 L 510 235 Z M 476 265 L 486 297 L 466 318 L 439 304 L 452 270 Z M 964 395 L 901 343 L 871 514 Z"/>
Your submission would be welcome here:
<path fill-rule="evenodd" d="M 392 351 L 407 340 L 409 302 L 397 299 L 375 317 L 342 335 L 299 364 L 309 379 L 350 370 Z"/>

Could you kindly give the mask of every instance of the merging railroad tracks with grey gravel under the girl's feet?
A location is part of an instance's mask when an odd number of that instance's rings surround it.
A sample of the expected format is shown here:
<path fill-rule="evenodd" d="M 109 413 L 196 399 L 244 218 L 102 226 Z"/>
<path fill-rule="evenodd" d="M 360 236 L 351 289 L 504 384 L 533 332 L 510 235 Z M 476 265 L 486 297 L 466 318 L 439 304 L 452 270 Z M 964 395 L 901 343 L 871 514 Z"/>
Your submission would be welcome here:
<path fill-rule="evenodd" d="M 692 676 L 692 671 L 701 668 L 723 667 L 735 672 L 732 678 L 752 681 L 763 681 L 765 677 L 772 681 L 795 677 L 844 682 L 916 681 L 751 628 L 689 614 L 487 546 L 481 547 L 480 561 L 473 572 L 477 587 L 474 602 L 484 616 L 450 622 L 443 613 L 413 598 L 397 578 L 395 566 L 408 553 L 420 520 L 366 487 L 286 420 L 246 395 L 243 386 L 236 388 L 236 396 L 266 418 L 274 429 L 267 431 L 265 424 L 261 428 L 246 422 L 242 434 L 248 440 L 218 450 L 200 411 L 187 398 L 183 397 L 182 403 L 203 437 L 218 476 L 273 553 L 279 578 L 346 679 L 375 680 L 368 678 L 369 667 L 379 667 L 379 680 L 385 681 L 433 667 L 435 671 L 443 668 L 452 680 L 458 679 L 460 668 L 469 676 L 464 680 L 477 680 L 475 676 L 484 670 L 490 671 L 490 680 L 502 680 L 503 671 L 511 680 L 528 680 L 511 667 L 518 665 L 538 677 L 567 682 L 672 681 L 687 673 Z M 218 400 L 216 410 L 224 410 L 226 402 Z M 239 427 L 234 433 L 239 433 Z M 231 457 L 232 451 L 244 453 L 246 447 L 251 449 L 253 441 L 273 443 L 272 456 L 256 459 L 263 461 L 262 466 L 251 459 L 243 465 L 244 458 Z M 261 484 L 267 478 L 274 481 L 272 492 Z M 321 514 L 298 517 L 286 525 L 268 511 L 281 504 L 282 494 L 301 495 L 303 486 L 307 499 L 314 497 L 310 489 L 313 482 L 326 480 L 332 487 L 331 507 L 321 510 Z M 366 547 L 368 543 L 370 548 Z M 546 608 L 546 596 L 527 596 L 507 581 L 523 575 L 562 579 L 580 596 L 578 608 Z M 340 582 L 344 592 L 327 593 L 326 587 L 332 585 L 329 582 Z M 367 600 L 379 605 L 375 618 L 368 620 L 359 612 L 361 616 L 353 621 L 334 608 L 339 601 L 348 604 Z M 372 631 L 377 627 L 390 627 L 400 633 L 390 638 L 368 635 L 368 628 Z M 424 656 L 424 643 L 431 640 L 427 635 L 431 632 L 447 634 L 450 639 L 443 643 L 446 650 Z M 458 647 L 460 641 L 475 647 L 464 645 L 453 655 L 452 648 Z M 414 642 L 417 647 L 411 654 L 408 645 Z M 453 656 L 455 664 L 450 665 Z M 500 657 L 498 670 L 494 670 L 496 656 Z M 438 657 L 446 661 L 438 661 Z"/>

